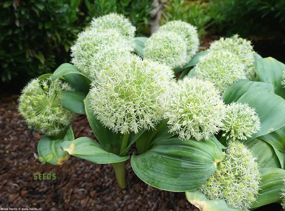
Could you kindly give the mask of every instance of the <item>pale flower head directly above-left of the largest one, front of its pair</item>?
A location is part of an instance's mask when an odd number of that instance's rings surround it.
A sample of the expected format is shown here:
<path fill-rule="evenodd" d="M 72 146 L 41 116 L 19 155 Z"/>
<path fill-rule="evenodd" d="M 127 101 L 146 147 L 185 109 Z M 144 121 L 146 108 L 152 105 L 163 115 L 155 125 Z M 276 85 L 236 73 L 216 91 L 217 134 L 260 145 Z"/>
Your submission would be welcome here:
<path fill-rule="evenodd" d="M 115 30 L 87 30 L 78 34 L 71 46 L 71 62 L 91 80 L 103 65 L 113 62 L 115 57 L 129 54 L 132 47 Z"/>

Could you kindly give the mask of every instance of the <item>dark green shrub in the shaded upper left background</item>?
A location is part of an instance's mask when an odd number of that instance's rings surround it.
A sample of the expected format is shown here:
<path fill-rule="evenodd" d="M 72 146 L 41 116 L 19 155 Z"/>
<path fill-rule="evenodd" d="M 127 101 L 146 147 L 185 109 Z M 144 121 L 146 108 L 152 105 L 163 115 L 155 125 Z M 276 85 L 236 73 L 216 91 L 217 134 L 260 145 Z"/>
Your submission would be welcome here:
<path fill-rule="evenodd" d="M 93 16 L 117 11 L 137 35 L 147 33 L 152 0 L 8 0 L 0 2 L 1 79 L 23 80 L 51 73 L 70 61 L 69 48 Z M 17 76 L 17 77 L 16 77 Z"/>

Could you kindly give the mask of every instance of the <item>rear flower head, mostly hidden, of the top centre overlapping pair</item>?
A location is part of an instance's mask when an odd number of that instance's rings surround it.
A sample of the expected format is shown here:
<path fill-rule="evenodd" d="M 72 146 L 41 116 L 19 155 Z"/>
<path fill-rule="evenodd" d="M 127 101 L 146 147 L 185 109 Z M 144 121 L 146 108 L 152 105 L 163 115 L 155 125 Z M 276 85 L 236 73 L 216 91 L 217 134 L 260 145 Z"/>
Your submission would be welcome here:
<path fill-rule="evenodd" d="M 192 26 L 181 20 L 173 20 L 160 26 L 159 31 L 176 32 L 186 39 L 188 61 L 190 61 L 190 59 L 198 52 L 200 43 L 196 26 Z"/>

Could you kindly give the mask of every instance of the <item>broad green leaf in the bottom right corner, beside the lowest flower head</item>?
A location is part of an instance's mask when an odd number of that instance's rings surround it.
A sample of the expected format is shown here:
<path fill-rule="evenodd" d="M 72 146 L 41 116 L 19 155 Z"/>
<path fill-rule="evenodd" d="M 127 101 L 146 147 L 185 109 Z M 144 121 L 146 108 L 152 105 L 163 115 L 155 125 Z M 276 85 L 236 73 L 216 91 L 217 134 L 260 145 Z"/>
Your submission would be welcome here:
<path fill-rule="evenodd" d="M 279 201 L 281 189 L 284 188 L 284 169 L 261 168 L 259 172 L 261 177 L 260 190 L 258 191 L 257 200 L 252 208 Z"/>

